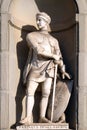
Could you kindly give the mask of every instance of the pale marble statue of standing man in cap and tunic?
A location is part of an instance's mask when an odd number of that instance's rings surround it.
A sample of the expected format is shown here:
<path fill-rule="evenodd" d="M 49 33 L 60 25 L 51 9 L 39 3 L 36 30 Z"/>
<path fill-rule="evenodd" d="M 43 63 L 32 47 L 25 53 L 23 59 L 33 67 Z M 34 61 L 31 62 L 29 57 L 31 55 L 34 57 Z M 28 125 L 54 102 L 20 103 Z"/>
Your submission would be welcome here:
<path fill-rule="evenodd" d="M 63 78 L 65 76 L 70 78 L 68 73 L 65 72 L 65 65 L 58 41 L 48 32 L 50 22 L 51 18 L 48 14 L 44 12 L 36 14 L 36 23 L 39 30 L 29 33 L 26 37 L 30 51 L 23 73 L 23 82 L 27 85 L 27 114 L 20 121 L 22 124 L 31 124 L 33 122 L 32 109 L 34 106 L 34 94 L 39 83 L 42 83 L 39 122 L 51 122 L 45 116 L 54 79 L 55 64 L 58 64 Z"/>

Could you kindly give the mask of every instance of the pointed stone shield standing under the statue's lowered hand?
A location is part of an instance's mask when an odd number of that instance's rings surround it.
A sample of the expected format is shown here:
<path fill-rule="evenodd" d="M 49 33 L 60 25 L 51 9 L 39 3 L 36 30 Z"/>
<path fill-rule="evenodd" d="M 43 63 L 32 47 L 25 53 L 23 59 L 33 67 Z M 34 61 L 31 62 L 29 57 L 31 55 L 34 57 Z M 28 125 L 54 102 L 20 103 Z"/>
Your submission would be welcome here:
<path fill-rule="evenodd" d="M 58 81 L 56 85 L 55 101 L 54 101 L 54 111 L 53 111 L 53 122 L 57 122 L 66 110 L 69 99 L 71 96 L 73 86 L 73 80 L 63 80 Z M 51 119 L 51 109 L 52 109 L 52 93 L 49 97 L 49 104 L 47 110 L 47 117 Z"/>

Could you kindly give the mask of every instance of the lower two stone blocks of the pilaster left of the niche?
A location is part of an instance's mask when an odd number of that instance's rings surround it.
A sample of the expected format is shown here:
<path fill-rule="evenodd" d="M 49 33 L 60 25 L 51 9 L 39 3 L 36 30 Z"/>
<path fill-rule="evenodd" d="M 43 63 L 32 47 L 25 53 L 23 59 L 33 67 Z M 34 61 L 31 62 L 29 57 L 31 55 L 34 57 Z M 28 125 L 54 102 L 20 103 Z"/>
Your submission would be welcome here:
<path fill-rule="evenodd" d="M 0 128 L 9 126 L 8 52 L 0 52 Z"/>

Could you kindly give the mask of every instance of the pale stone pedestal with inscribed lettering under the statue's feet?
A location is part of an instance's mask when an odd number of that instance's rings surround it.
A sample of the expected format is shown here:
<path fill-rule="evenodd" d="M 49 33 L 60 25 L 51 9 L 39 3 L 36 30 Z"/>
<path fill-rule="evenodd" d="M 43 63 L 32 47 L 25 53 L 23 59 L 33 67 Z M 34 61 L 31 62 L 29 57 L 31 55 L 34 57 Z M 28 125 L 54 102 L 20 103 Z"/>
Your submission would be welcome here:
<path fill-rule="evenodd" d="M 33 123 L 28 126 L 17 126 L 16 130 L 69 130 L 69 125 L 67 123 Z"/>

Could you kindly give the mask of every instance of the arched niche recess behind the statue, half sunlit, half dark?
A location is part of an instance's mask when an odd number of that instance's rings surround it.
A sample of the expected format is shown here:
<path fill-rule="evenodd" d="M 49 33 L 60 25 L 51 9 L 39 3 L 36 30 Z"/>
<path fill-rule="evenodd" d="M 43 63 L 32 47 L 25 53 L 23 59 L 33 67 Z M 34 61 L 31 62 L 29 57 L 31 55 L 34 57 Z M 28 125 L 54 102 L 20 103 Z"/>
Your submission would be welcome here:
<path fill-rule="evenodd" d="M 22 83 L 22 72 L 28 55 L 25 37 L 28 32 L 37 28 L 35 15 L 38 11 L 45 11 L 51 16 L 51 33 L 59 40 L 64 62 L 67 66 L 66 69 L 71 73 L 74 79 L 73 94 L 66 117 L 71 127 L 75 128 L 76 7 L 72 0 L 68 0 L 68 4 L 66 0 L 51 0 L 51 2 L 50 0 L 27 0 L 26 2 L 25 0 L 15 0 L 11 2 L 9 7 L 9 109 L 12 111 L 12 107 L 14 106 L 15 108 L 16 106 L 16 110 L 14 109 L 16 112 L 14 113 L 14 118 L 16 118 L 17 122 L 25 115 L 25 88 Z M 14 73 L 14 75 L 12 75 L 12 73 Z M 12 107 L 11 104 L 13 104 Z M 73 108 L 71 106 L 73 106 Z M 35 110 L 38 111 L 38 108 L 34 109 L 35 115 Z M 36 117 L 38 117 L 38 115 L 36 115 Z M 14 119 L 10 116 L 10 122 L 12 122 L 12 120 Z M 38 118 L 35 119 L 35 122 L 37 122 L 37 120 Z"/>

